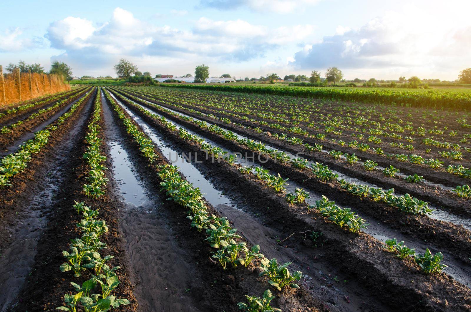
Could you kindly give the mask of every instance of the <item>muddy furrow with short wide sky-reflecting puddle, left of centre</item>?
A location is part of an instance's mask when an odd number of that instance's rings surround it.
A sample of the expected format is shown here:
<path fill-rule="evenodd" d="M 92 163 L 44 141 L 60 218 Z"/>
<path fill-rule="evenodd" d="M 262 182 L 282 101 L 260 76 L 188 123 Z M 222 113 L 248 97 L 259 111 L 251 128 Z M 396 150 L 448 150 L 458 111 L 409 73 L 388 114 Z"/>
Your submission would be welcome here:
<path fill-rule="evenodd" d="M 102 97 L 106 138 L 117 181 L 126 209 L 120 228 L 134 271 L 135 296 L 139 311 L 199 311 L 188 291 L 192 283 L 191 259 L 174 240 L 167 227 L 160 201 L 148 196 L 123 147 L 119 129 Z"/>

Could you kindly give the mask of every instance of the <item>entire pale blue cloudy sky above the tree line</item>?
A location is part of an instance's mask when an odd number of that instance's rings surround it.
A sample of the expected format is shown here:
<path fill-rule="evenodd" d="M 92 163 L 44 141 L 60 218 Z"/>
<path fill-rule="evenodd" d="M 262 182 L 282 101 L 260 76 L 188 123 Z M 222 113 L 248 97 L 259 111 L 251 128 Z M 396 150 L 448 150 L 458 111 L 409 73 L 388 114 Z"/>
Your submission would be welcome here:
<path fill-rule="evenodd" d="M 211 76 L 324 76 L 336 66 L 346 79 L 452 81 L 471 67 L 470 0 L 71 3 L 2 1 L 0 65 L 58 60 L 74 76 L 116 76 L 126 58 L 152 75 L 205 64 Z"/>

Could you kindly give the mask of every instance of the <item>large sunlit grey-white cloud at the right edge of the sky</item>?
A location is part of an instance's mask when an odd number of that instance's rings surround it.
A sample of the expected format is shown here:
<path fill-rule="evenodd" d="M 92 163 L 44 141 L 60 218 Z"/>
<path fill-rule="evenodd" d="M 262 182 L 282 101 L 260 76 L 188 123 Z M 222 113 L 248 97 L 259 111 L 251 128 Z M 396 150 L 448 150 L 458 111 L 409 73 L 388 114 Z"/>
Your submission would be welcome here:
<path fill-rule="evenodd" d="M 299 69 L 339 66 L 345 69 L 391 68 L 432 72 L 440 66 L 463 66 L 470 62 L 471 27 L 453 29 L 433 24 L 430 16 L 390 12 L 358 29 L 339 26 L 332 36 L 306 46 L 294 55 L 291 65 Z M 424 30 L 423 25 L 428 25 Z M 465 52 L 466 51 L 466 52 Z M 446 57 L 446 60 L 444 59 Z M 447 64 L 447 65 L 445 65 Z M 443 69 L 443 68 L 441 68 Z"/>

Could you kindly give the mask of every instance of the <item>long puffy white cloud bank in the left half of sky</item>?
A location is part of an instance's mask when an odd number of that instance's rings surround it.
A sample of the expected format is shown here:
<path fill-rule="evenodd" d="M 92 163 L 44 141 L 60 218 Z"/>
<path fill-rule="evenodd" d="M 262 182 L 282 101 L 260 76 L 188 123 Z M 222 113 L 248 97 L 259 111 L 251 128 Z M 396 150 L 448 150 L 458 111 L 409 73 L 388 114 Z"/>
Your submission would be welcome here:
<path fill-rule="evenodd" d="M 243 20 L 215 21 L 202 17 L 190 31 L 154 26 L 116 8 L 109 22 L 94 26 L 89 20 L 66 17 L 49 25 L 51 47 L 68 57 L 81 54 L 122 56 L 205 56 L 220 60 L 248 60 L 286 43 L 308 38 L 311 25 L 270 28 Z M 65 57 L 65 55 L 63 56 Z"/>

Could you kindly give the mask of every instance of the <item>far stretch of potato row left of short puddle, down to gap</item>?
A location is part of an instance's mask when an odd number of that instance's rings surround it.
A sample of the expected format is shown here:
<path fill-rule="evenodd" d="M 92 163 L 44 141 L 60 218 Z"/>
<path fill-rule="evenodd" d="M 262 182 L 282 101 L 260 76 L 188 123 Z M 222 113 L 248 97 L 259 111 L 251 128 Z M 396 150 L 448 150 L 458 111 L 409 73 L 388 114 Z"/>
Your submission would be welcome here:
<path fill-rule="evenodd" d="M 105 171 L 108 170 L 104 165 L 106 156 L 102 154 L 100 147 L 103 144 L 99 138 L 100 120 L 101 120 L 101 89 L 98 90 L 95 98 L 92 119 L 88 125 L 88 133 L 85 136 L 87 142 L 87 152 L 83 154 L 83 158 L 87 160 L 90 166 L 87 181 L 89 184 L 83 186 L 83 192 L 88 197 L 98 198 L 105 194 L 106 182 Z"/>

